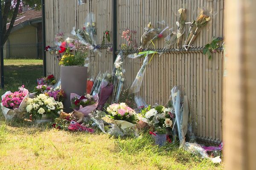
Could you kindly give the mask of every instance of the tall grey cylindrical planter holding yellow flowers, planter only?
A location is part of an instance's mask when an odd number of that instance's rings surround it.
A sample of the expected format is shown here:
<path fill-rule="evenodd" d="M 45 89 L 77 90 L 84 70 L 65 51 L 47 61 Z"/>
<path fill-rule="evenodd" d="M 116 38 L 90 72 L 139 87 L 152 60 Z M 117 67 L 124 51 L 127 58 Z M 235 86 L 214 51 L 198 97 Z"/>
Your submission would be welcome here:
<path fill-rule="evenodd" d="M 65 93 L 63 100 L 64 111 L 73 111 L 70 108 L 70 93 L 84 95 L 86 93 L 87 67 L 61 66 L 61 89 Z"/>

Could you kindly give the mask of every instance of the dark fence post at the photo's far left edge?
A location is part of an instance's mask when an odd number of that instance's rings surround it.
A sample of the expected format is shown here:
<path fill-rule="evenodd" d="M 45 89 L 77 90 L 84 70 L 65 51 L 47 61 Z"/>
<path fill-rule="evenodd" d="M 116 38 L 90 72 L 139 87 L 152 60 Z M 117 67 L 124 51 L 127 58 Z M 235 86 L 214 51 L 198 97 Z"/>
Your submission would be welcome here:
<path fill-rule="evenodd" d="M 2 0 L 0 0 L 2 5 Z M 3 77 L 3 23 L 2 23 L 2 7 L 0 6 L 0 67 L 1 67 L 1 88 L 4 88 L 4 77 Z"/>

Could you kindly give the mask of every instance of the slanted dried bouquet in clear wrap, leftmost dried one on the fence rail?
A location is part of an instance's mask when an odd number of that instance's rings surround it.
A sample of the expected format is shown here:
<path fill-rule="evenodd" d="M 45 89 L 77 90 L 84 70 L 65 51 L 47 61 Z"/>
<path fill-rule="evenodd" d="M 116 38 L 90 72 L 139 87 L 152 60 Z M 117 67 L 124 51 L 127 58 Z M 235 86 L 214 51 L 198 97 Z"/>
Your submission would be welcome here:
<path fill-rule="evenodd" d="M 158 22 L 159 27 L 153 28 L 151 22 L 148 23 L 148 26 L 145 29 L 141 39 L 140 39 L 140 47 L 139 50 L 145 50 L 149 47 L 149 45 L 153 44 L 154 41 L 164 37 L 164 31 L 169 28 L 166 26 L 164 21 Z M 155 45 L 154 45 L 155 46 Z"/>

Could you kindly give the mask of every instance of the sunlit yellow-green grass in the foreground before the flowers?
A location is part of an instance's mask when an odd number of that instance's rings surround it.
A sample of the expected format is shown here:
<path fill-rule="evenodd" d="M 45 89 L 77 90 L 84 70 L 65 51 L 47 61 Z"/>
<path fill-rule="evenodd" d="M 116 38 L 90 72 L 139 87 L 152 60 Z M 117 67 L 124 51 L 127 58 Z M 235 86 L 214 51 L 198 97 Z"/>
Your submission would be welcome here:
<path fill-rule="evenodd" d="M 0 170 L 223 170 L 177 146 L 154 145 L 151 136 L 114 139 L 70 133 L 49 124 L 5 122 L 0 116 Z"/>

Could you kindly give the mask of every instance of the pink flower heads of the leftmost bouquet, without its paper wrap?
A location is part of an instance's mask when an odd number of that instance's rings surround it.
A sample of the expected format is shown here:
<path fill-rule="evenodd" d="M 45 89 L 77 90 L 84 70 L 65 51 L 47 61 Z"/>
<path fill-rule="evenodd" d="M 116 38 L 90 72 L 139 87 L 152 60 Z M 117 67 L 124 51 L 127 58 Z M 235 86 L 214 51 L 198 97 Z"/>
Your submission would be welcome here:
<path fill-rule="evenodd" d="M 28 94 L 28 91 L 15 91 L 14 93 L 6 94 L 2 99 L 3 107 L 9 109 L 19 108 L 20 103 L 23 101 L 24 97 Z"/>

